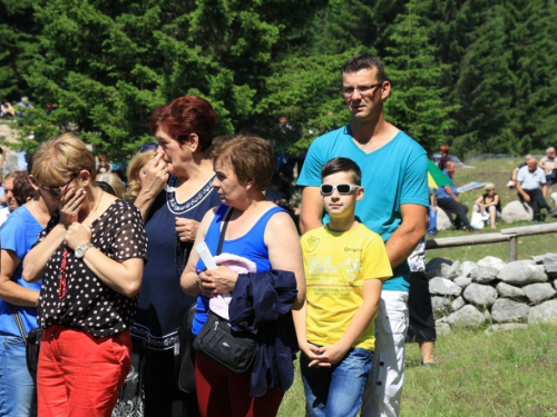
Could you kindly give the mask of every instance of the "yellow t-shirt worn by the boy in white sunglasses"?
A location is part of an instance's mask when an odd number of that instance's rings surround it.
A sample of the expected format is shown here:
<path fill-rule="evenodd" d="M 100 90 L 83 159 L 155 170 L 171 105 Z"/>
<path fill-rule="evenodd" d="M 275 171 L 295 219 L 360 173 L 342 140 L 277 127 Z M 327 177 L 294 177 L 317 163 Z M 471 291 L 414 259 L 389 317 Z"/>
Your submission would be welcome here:
<path fill-rule="evenodd" d="M 307 297 L 307 340 L 338 342 L 363 300 L 363 281 L 392 277 L 381 237 L 359 225 L 345 232 L 326 226 L 302 236 Z M 373 350 L 373 320 L 352 347 Z"/>

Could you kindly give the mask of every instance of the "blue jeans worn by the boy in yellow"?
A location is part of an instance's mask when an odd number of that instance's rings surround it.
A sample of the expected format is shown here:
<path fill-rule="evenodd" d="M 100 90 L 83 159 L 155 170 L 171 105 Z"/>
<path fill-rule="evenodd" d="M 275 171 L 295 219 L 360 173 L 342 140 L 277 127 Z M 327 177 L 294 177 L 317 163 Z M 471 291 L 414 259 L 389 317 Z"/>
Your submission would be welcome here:
<path fill-rule="evenodd" d="M 363 388 L 370 375 L 373 351 L 353 348 L 331 368 L 307 367 L 310 360 L 300 355 L 300 368 L 309 417 L 355 416 Z"/>

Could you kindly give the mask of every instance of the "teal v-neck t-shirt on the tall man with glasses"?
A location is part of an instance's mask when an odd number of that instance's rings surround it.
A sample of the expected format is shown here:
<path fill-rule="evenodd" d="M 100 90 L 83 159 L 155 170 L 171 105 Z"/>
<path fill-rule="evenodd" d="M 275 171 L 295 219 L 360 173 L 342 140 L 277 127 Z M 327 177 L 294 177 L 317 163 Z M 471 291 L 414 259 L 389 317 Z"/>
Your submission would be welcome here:
<path fill-rule="evenodd" d="M 429 206 L 428 159 L 423 148 L 400 131 L 385 146 L 365 153 L 353 141 L 349 126 L 315 139 L 310 147 L 299 186 L 319 187 L 321 168 L 332 158 L 352 159 L 362 170 L 363 199 L 355 205 L 355 216 L 387 241 L 402 222 L 401 205 Z M 323 224 L 329 222 L 329 215 Z M 393 269 L 383 290 L 408 291 L 408 262 Z"/>

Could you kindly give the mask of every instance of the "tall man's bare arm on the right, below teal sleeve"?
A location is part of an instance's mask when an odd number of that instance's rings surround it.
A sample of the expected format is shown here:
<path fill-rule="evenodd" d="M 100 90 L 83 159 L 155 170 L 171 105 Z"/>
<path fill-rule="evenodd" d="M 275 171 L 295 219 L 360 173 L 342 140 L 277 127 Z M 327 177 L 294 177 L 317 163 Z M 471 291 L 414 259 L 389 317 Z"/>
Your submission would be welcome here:
<path fill-rule="evenodd" d="M 412 254 L 427 229 L 428 209 L 424 206 L 402 205 L 400 212 L 402 222 L 385 242 L 391 268 L 398 267 Z"/>

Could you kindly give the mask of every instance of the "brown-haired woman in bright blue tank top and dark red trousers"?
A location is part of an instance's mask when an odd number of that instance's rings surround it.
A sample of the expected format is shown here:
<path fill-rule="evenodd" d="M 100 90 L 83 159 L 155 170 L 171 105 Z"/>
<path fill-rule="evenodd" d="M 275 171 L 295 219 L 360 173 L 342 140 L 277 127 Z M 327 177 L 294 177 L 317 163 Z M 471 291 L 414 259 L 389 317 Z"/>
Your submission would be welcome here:
<path fill-rule="evenodd" d="M 216 173 L 213 187 L 223 205 L 207 212 L 195 244 L 205 241 L 211 254 L 217 255 L 222 226 L 227 222 L 221 261 L 226 264 L 227 258 L 235 261 L 240 258 L 245 271 L 257 274 L 270 269 L 292 271 L 297 287 L 292 311 L 299 314 L 305 296 L 305 281 L 296 228 L 289 214 L 264 196 L 273 176 L 271 145 L 261 138 L 237 136 L 219 143 L 212 156 Z M 217 265 L 216 269 L 206 270 L 194 249 L 182 276 L 184 291 L 198 296 L 194 335 L 203 327 L 209 305 L 214 312 L 218 307 L 221 317 L 227 315 L 226 295 L 234 291 L 238 279 L 247 279 L 238 274 L 237 268 Z M 275 324 L 271 321 L 265 326 Z M 264 330 L 260 328 L 256 337 L 262 332 Z M 284 395 L 270 384 L 263 396 L 250 396 L 252 370 L 234 374 L 201 353 L 196 356 L 195 377 L 202 416 L 273 416 Z"/>

